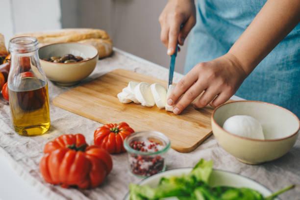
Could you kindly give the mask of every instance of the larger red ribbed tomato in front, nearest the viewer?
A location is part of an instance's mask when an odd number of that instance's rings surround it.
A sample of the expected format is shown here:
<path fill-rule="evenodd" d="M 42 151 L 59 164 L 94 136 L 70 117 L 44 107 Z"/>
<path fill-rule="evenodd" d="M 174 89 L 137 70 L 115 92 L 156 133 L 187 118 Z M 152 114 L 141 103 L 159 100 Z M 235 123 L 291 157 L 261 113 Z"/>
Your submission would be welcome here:
<path fill-rule="evenodd" d="M 46 182 L 81 189 L 99 186 L 112 170 L 110 154 L 97 146 L 88 146 L 82 134 L 62 135 L 48 142 L 40 162 Z"/>

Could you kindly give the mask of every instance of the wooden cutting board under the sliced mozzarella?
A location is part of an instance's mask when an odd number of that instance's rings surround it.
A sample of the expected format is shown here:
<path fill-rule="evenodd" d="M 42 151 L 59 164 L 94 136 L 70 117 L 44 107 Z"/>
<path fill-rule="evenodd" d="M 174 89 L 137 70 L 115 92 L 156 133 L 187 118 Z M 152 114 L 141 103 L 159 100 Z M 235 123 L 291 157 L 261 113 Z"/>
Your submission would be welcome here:
<path fill-rule="evenodd" d="M 101 124 L 126 122 L 135 131 L 159 131 L 170 138 L 172 148 L 179 152 L 194 150 L 211 135 L 212 107 L 196 110 L 190 105 L 180 115 L 175 115 L 156 105 L 121 103 L 117 94 L 131 80 L 167 86 L 166 81 L 118 69 L 57 96 L 53 104 Z"/>

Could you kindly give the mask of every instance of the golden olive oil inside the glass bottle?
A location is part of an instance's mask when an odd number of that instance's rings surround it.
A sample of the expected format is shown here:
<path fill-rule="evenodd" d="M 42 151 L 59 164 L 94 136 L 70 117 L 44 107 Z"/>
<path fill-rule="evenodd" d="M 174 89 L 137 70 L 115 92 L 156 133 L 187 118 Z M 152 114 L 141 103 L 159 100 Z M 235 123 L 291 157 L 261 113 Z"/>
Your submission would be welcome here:
<path fill-rule="evenodd" d="M 47 81 L 22 77 L 8 88 L 12 124 L 24 136 L 45 133 L 50 127 Z"/>

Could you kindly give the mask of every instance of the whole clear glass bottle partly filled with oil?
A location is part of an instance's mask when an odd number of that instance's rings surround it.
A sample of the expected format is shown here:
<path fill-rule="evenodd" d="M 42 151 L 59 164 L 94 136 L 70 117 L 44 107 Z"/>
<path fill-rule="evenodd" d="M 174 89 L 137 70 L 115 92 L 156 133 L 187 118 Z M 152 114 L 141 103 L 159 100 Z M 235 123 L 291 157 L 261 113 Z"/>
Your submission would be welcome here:
<path fill-rule="evenodd" d="M 49 95 L 46 75 L 40 67 L 38 41 L 17 37 L 9 41 L 11 66 L 8 96 L 12 124 L 24 136 L 45 133 L 50 127 Z"/>

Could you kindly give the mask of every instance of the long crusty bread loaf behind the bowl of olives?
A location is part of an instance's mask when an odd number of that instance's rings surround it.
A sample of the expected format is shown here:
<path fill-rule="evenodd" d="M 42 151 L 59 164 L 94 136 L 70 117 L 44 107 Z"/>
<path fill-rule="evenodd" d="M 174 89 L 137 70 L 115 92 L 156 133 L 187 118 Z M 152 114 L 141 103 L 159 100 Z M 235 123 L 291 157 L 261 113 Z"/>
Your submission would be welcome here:
<path fill-rule="evenodd" d="M 110 55 L 113 47 L 112 40 L 104 30 L 93 28 L 65 28 L 54 31 L 18 33 L 14 37 L 20 36 L 37 38 L 40 47 L 65 42 L 90 44 L 99 50 L 99 58 Z"/>

